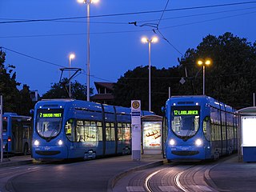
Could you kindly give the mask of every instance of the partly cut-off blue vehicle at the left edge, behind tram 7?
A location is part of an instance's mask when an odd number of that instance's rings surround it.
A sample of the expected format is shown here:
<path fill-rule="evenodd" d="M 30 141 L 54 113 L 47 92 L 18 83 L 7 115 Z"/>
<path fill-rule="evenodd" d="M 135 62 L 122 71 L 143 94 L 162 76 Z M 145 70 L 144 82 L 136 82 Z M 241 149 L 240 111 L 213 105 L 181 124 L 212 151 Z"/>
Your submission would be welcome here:
<path fill-rule="evenodd" d="M 30 154 L 32 138 L 31 117 L 16 113 L 2 115 L 4 154 Z"/>

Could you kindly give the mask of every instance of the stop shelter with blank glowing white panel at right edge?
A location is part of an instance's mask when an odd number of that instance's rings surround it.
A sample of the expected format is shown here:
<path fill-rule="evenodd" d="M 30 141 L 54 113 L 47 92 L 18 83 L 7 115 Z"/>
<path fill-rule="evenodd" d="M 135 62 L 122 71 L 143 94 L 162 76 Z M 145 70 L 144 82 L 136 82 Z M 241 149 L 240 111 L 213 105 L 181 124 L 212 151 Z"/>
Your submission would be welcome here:
<path fill-rule="evenodd" d="M 238 110 L 238 160 L 256 162 L 256 106 Z"/>

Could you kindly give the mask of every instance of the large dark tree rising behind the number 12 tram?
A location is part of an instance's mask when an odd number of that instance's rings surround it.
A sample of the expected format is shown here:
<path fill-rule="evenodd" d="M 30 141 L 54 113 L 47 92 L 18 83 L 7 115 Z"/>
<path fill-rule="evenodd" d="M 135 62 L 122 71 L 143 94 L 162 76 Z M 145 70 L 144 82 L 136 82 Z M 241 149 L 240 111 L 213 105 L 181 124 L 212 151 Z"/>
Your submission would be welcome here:
<path fill-rule="evenodd" d="M 197 50 L 187 50 L 181 65 L 186 66 L 193 79 L 193 94 L 202 94 L 202 69 L 196 66 L 198 58 L 213 60 L 212 66 L 206 67 L 207 95 L 237 109 L 252 105 L 252 94 L 256 90 L 255 43 L 252 45 L 246 38 L 225 33 L 218 38 L 207 35 Z M 182 94 L 192 93 L 184 91 Z"/>

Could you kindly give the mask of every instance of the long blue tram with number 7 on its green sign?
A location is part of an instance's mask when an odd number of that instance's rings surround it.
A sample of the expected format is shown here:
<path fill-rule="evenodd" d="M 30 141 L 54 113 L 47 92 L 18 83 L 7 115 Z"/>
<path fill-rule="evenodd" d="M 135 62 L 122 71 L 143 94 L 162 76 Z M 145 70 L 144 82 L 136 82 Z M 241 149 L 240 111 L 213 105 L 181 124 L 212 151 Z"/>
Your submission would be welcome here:
<path fill-rule="evenodd" d="M 152 114 L 142 111 L 142 115 Z M 130 108 L 74 99 L 37 102 L 32 156 L 35 159 L 96 158 L 130 154 Z"/>

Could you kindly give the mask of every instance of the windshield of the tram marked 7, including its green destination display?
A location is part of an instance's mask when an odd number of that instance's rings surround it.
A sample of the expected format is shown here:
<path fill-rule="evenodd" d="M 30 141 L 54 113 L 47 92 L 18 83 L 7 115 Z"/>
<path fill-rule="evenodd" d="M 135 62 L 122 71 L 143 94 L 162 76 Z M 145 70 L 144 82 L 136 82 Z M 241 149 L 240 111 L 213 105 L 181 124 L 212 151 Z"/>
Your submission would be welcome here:
<path fill-rule="evenodd" d="M 38 110 L 36 130 L 42 138 L 54 138 L 62 129 L 63 110 Z"/>

